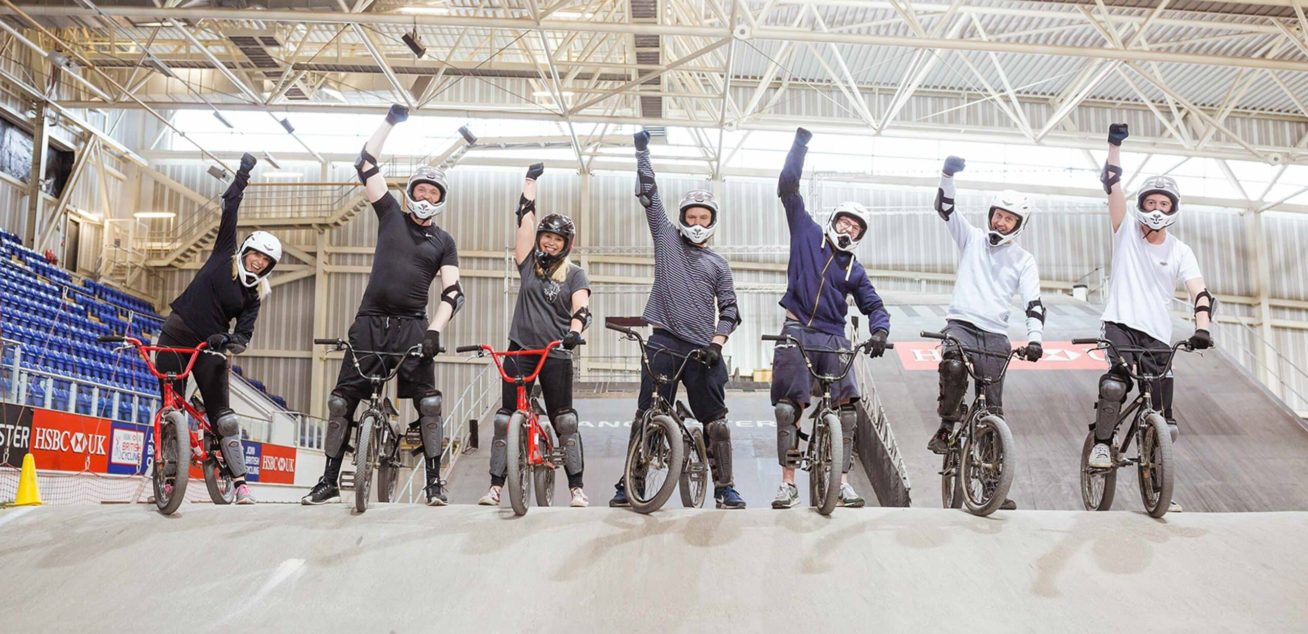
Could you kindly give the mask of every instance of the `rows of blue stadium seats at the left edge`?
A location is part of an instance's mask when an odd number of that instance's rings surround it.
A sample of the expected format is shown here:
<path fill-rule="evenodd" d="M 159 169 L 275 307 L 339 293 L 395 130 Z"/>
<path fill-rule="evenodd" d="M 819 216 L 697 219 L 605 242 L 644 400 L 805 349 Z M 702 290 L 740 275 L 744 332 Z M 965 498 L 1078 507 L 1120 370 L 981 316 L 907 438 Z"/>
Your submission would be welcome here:
<path fill-rule="evenodd" d="M 136 352 L 115 353 L 112 344 L 95 339 L 153 341 L 162 324 L 148 302 L 92 280 L 78 284 L 0 230 L 0 337 L 7 340 L 0 399 L 148 424 L 158 407 L 157 379 Z M 262 383 L 250 383 L 268 393 Z M 285 400 L 268 396 L 285 408 Z"/>

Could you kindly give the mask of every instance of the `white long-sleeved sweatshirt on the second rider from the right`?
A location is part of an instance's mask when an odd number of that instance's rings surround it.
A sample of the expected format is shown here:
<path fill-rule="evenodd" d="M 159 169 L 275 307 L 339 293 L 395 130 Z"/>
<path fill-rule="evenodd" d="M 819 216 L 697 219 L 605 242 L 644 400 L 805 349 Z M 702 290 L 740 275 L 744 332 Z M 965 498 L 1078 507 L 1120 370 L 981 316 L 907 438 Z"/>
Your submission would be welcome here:
<path fill-rule="evenodd" d="M 946 319 L 971 322 L 986 332 L 1006 335 L 1012 294 L 1022 293 L 1027 314 L 1027 340 L 1044 337 L 1044 305 L 1040 303 L 1040 272 L 1036 259 L 1018 244 L 990 246 L 986 233 L 972 226 L 954 207 L 954 178 L 940 175 L 937 212 L 963 256 Z"/>

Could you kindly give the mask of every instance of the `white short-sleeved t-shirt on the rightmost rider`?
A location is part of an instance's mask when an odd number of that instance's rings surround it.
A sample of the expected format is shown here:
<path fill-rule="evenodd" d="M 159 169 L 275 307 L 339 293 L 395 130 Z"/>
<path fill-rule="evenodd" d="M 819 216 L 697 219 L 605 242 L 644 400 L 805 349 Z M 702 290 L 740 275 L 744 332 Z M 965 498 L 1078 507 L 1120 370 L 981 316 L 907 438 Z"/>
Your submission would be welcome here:
<path fill-rule="evenodd" d="M 1130 214 L 1113 233 L 1112 281 L 1104 322 L 1117 322 L 1172 342 L 1172 297 L 1179 284 L 1197 277 L 1194 251 L 1171 233 L 1162 244 L 1150 244 L 1141 224 Z"/>

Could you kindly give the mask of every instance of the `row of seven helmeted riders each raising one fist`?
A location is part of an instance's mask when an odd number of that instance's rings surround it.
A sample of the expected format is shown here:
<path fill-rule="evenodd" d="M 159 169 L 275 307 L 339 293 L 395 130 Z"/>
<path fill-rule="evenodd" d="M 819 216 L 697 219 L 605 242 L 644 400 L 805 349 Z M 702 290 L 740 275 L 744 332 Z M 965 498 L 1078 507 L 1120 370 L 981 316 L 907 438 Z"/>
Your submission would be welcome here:
<path fill-rule="evenodd" d="M 386 120 L 364 145 L 354 165 L 366 197 L 377 213 L 378 229 L 371 277 L 349 328 L 349 344 L 358 350 L 388 353 L 421 346 L 420 357 L 403 357 L 398 370 L 398 396 L 412 399 L 419 413 L 417 425 L 425 455 L 426 503 L 443 506 L 447 498 L 439 477 L 442 396 L 436 388 L 433 358 L 443 352 L 441 332 L 463 307 L 464 295 L 459 284 L 454 238 L 434 224 L 450 196 L 445 173 L 436 167 L 419 167 L 403 191 L 403 207 L 387 192 L 386 180 L 381 175 L 375 157 L 382 153 L 392 128 L 405 119 L 408 108 L 392 106 Z M 870 212 L 858 203 L 841 203 L 825 225 L 820 225 L 810 216 L 799 195 L 799 179 L 811 137 L 808 131 L 797 129 L 777 186 L 777 196 L 785 208 L 790 230 L 787 285 L 780 302 L 785 309 L 782 335 L 789 335 L 793 340 L 778 341 L 773 353 L 772 404 L 777 422 L 777 458 L 782 465 L 782 482 L 772 501 L 773 509 L 789 509 L 799 503 L 793 456 L 802 437 L 800 414 L 814 392 L 803 353 L 793 341 L 804 348 L 849 349 L 845 322 L 850 298 L 867 318 L 870 339 L 865 349 L 870 356 L 880 357 L 889 336 L 886 306 L 854 256 L 855 248 L 867 237 Z M 1193 302 L 1196 331 L 1188 340 L 1193 349 L 1206 349 L 1213 344 L 1207 331 L 1213 295 L 1203 284 L 1194 254 L 1167 230 L 1176 222 L 1180 212 L 1181 196 L 1176 182 L 1168 176 L 1147 178 L 1135 192 L 1133 204 L 1127 205 L 1120 167 L 1121 142 L 1126 137 L 1125 124 L 1109 127 L 1108 158 L 1100 176 L 1108 195 L 1113 231 L 1113 276 L 1100 336 L 1117 346 L 1160 350 L 1160 356 L 1137 356 L 1134 362 L 1143 374 L 1162 375 L 1162 359 L 1169 350 L 1168 341 L 1172 337 L 1169 303 L 1177 282 L 1185 285 Z M 713 497 L 718 509 L 744 509 L 746 502 L 735 490 L 731 475 L 731 427 L 725 403 L 727 369 L 722 363 L 722 345 L 740 324 L 740 315 L 731 267 L 708 246 L 718 227 L 721 209 L 712 192 L 693 190 L 681 196 L 676 222 L 672 222 L 664 213 L 663 196 L 655 183 L 649 140 L 649 132 L 634 135 L 638 179 L 636 196 L 645 208 L 654 238 L 654 284 L 642 315 L 653 327 L 649 346 L 683 356 L 697 352 L 693 356 L 697 361 L 687 363 L 680 383 L 685 386 L 695 418 L 704 425 Z M 194 346 L 205 341 L 211 350 L 234 354 L 249 345 L 260 301 L 268 293 L 268 273 L 281 258 L 280 242 L 266 231 L 251 233 L 237 248 L 237 209 L 254 163 L 254 157 L 246 154 L 232 186 L 224 193 L 222 221 L 213 254 L 186 292 L 171 303 L 173 314 L 164 324 L 160 345 Z M 935 210 L 961 254 L 943 332 L 961 345 L 998 353 L 997 357 L 977 356 L 973 359 L 974 373 L 986 376 L 998 373 L 1003 363 L 999 356 L 1007 356 L 1012 350 L 1007 322 L 1014 293 L 1020 294 L 1025 307 L 1028 342 L 1018 356 L 1027 361 L 1037 361 L 1044 354 L 1041 336 L 1046 311 L 1040 299 L 1040 276 L 1035 259 L 1015 243 L 1031 225 L 1035 208 L 1022 193 L 1006 190 L 990 201 L 986 226 L 973 226 L 963 214 L 955 213 L 954 176 L 963 169 L 963 158 L 948 157 L 935 196 Z M 522 284 L 509 331 L 509 349 L 538 350 L 561 340 L 561 346 L 549 352 L 544 359 L 539 382 L 547 413 L 562 447 L 569 505 L 583 507 L 590 502 L 582 488 L 585 461 L 578 414 L 573 408 L 570 350 L 582 342 L 582 332 L 591 323 L 590 285 L 586 272 L 568 256 L 576 239 L 573 221 L 560 213 L 538 214 L 536 179 L 543 171 L 542 163 L 528 167 L 515 208 L 514 255 Z M 429 288 L 437 277 L 441 284 L 439 302 L 436 314 L 428 319 Z M 235 325 L 230 327 L 233 320 Z M 1109 356 L 1112 367 L 1099 379 L 1095 444 L 1088 455 L 1091 468 L 1113 467 L 1109 442 L 1131 387 L 1131 378 L 1117 363 L 1117 354 L 1109 350 Z M 226 367 L 217 356 L 200 357 L 194 374 L 213 421 L 213 430 L 221 437 L 224 460 L 235 486 L 234 501 L 254 503 L 246 484 L 239 424 L 228 405 Z M 836 354 L 815 357 L 808 361 L 816 371 L 836 374 L 840 365 Z M 357 370 L 352 361 L 358 362 Z M 518 367 L 525 369 L 523 374 L 530 374 L 530 369 L 538 362 L 539 356 L 505 357 L 504 370 L 508 376 L 517 375 Z M 927 444 L 937 454 L 950 450 L 951 438 L 956 438 L 951 430 L 965 413 L 963 401 L 969 375 L 964 362 L 963 354 L 951 346 L 939 365 L 940 427 Z M 157 363 L 161 371 L 184 366 L 181 356 L 173 353 L 160 353 Z M 385 370 L 379 371 L 381 363 L 383 361 L 378 356 L 347 358 L 341 363 L 336 386 L 327 401 L 326 467 L 322 478 L 303 497 L 305 505 L 340 499 L 337 481 L 351 429 L 354 426 L 352 416 L 361 399 L 370 393 L 370 384 L 364 375 L 386 374 Z M 649 363 L 649 367 L 642 367 L 636 421 L 651 405 L 655 383 L 649 373 L 653 370 L 671 375 L 675 370 L 662 367 L 674 363 L 667 354 L 654 354 Z M 184 384 L 175 388 L 184 393 Z M 531 390 L 530 384 L 527 390 Z M 662 390 L 664 399 L 671 401 L 678 386 L 667 384 Z M 984 390 L 991 413 L 1002 416 L 1002 382 Z M 1175 438 L 1171 373 L 1158 379 L 1151 390 L 1162 396 L 1163 416 Z M 857 426 L 854 403 L 858 397 L 857 384 L 848 375 L 832 387 L 832 404 L 838 409 L 844 450 L 840 506 L 863 506 L 863 499 L 848 481 Z M 480 499 L 481 505 L 500 503 L 506 476 L 506 434 L 515 405 L 517 387 L 505 382 L 504 407 L 494 414 L 490 486 Z M 638 425 L 632 426 L 633 441 L 637 429 Z M 629 506 L 624 482 L 619 481 L 615 488 L 610 506 Z M 1014 507 L 1011 501 L 1005 501 L 1003 509 Z M 1175 501 L 1171 510 L 1180 510 Z"/>

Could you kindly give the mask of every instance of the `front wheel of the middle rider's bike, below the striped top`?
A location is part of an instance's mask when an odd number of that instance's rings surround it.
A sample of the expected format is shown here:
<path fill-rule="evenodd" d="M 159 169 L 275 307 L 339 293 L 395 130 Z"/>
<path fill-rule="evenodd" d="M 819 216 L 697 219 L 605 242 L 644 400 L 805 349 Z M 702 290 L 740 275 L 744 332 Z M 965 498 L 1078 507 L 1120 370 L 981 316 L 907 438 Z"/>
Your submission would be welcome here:
<path fill-rule="evenodd" d="M 672 418 L 654 416 L 637 430 L 623 469 L 632 510 L 654 512 L 662 509 L 681 478 L 684 460 L 685 443 Z"/>

